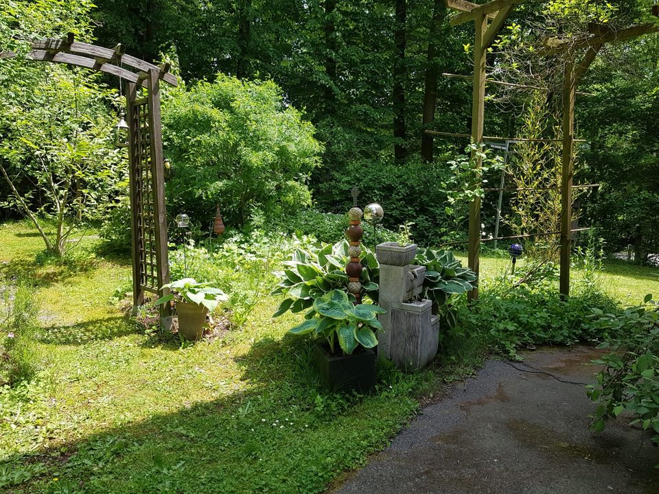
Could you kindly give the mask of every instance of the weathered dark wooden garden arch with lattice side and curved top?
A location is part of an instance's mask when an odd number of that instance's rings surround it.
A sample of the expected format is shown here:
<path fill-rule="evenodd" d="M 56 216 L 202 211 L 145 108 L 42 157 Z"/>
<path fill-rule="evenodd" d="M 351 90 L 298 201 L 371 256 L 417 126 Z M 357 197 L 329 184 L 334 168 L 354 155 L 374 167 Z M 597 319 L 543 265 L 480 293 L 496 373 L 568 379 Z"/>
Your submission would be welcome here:
<path fill-rule="evenodd" d="M 12 52 L 0 52 L 0 58 L 15 56 Z M 64 39 L 34 40 L 27 59 L 75 65 L 115 75 L 126 81 L 132 296 L 135 310 L 143 305 L 147 292 L 162 295 L 161 287 L 169 283 L 170 278 L 160 81 L 176 86 L 178 80 L 169 72 L 169 64 L 158 67 L 126 55 L 122 45 L 104 48 L 78 43 L 73 34 Z M 146 89 L 146 97 L 140 97 L 140 88 Z M 170 327 L 170 305 L 162 306 L 161 322 L 163 326 Z"/>

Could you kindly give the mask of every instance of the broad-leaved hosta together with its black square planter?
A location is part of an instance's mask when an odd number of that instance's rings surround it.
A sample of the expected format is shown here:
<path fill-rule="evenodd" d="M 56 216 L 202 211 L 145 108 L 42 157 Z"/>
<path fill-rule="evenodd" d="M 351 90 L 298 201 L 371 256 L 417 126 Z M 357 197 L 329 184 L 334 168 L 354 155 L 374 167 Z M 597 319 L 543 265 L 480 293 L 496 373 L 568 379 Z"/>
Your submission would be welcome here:
<path fill-rule="evenodd" d="M 382 331 L 376 318 L 384 314 L 377 305 L 354 305 L 343 290 L 316 298 L 308 319 L 291 333 L 316 333 L 327 345 L 314 349 L 314 364 L 323 384 L 332 391 L 369 392 L 375 386 L 375 331 Z"/>

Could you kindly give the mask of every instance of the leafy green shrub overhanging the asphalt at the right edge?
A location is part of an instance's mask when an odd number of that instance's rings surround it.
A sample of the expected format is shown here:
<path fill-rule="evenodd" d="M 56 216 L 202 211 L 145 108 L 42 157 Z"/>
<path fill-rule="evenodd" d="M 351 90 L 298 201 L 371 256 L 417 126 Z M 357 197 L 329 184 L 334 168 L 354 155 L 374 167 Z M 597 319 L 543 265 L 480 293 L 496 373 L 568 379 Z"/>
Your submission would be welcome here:
<path fill-rule="evenodd" d="M 649 294 L 643 304 L 621 314 L 594 309 L 594 323 L 610 338 L 599 345 L 607 353 L 593 364 L 603 366 L 597 386 L 588 396 L 599 404 L 592 416 L 592 430 L 601 432 L 606 422 L 623 412 L 659 444 L 659 304 Z"/>

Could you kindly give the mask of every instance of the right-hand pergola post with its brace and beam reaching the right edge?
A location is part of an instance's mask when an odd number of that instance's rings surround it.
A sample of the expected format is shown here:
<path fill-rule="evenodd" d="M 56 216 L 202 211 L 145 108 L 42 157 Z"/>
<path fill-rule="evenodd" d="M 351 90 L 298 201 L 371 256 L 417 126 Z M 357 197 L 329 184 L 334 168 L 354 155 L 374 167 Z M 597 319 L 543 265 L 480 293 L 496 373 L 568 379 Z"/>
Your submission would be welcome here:
<path fill-rule="evenodd" d="M 656 16 L 659 11 L 654 8 L 652 13 Z M 597 58 L 597 54 L 606 43 L 614 43 L 644 34 L 659 32 L 655 24 L 643 24 L 629 27 L 625 30 L 613 31 L 605 25 L 590 25 L 590 36 L 586 40 L 574 43 L 571 40 L 550 38 L 540 51 L 543 56 L 564 54 L 563 78 L 563 154 L 561 174 L 561 233 L 560 233 L 560 293 L 567 297 L 570 295 L 570 255 L 572 252 L 572 203 L 573 203 L 573 176 L 575 173 L 575 100 L 579 81 L 586 74 L 588 68 Z M 586 48 L 586 54 L 581 61 L 576 62 L 577 53 Z"/>

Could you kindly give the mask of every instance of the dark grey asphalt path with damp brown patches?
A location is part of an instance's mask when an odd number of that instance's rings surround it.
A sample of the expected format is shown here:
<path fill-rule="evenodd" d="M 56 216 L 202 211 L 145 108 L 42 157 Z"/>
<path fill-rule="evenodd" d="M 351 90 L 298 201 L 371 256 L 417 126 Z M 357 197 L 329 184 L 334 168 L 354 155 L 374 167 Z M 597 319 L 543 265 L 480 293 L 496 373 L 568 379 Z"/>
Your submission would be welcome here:
<path fill-rule="evenodd" d="M 578 383 L 594 383 L 586 362 L 597 355 L 578 346 L 487 362 L 332 492 L 659 494 L 659 447 L 628 416 L 588 429 L 595 405 Z"/>

